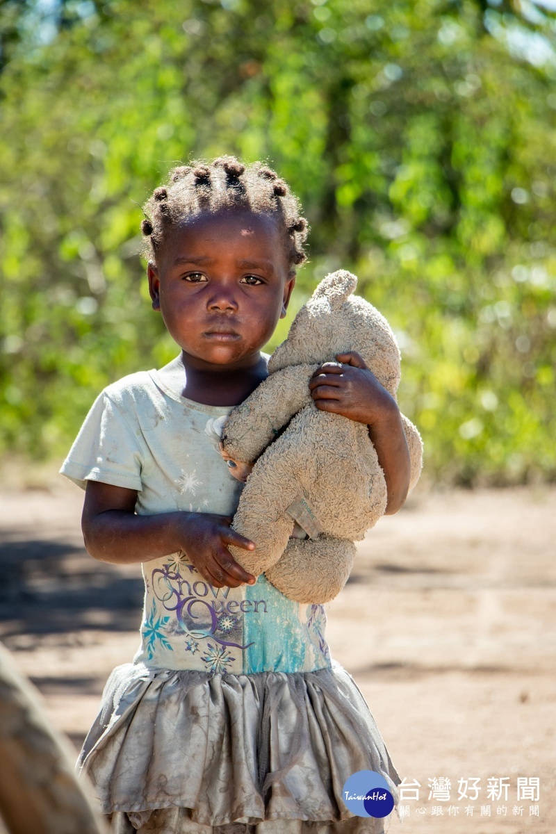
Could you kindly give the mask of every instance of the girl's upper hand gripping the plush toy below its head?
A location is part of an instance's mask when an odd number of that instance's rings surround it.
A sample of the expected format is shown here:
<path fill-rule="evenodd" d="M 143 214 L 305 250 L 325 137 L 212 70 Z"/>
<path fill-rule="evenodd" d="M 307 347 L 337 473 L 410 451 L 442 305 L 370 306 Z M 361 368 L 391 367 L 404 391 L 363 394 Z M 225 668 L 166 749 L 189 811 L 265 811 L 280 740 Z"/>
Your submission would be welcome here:
<path fill-rule="evenodd" d="M 391 420 L 393 413 L 398 412 L 398 404 L 368 369 L 363 357 L 352 350 L 337 354 L 336 359 L 340 364 L 325 362 L 309 382 L 317 408 L 368 426 Z"/>

